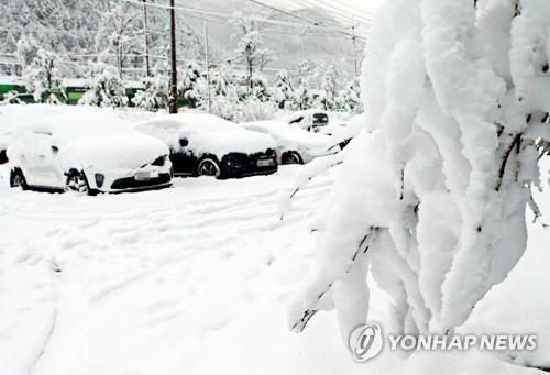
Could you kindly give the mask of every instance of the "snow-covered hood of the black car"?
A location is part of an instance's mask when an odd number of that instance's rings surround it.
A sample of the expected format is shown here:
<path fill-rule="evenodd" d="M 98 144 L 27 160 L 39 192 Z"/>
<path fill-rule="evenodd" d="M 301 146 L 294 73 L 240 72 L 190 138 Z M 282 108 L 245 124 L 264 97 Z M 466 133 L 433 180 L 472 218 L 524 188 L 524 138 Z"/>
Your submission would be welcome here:
<path fill-rule="evenodd" d="M 186 147 L 199 157 L 212 154 L 218 158 L 229 153 L 256 154 L 267 148 L 275 148 L 275 141 L 271 136 L 245 130 L 195 134 Z"/>

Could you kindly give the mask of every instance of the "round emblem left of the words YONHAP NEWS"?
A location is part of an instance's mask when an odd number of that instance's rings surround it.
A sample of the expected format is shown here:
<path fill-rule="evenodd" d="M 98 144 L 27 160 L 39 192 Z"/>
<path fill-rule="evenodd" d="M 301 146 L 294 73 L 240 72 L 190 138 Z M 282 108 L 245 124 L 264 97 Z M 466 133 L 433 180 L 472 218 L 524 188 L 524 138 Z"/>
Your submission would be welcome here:
<path fill-rule="evenodd" d="M 384 348 L 382 327 L 376 323 L 358 327 L 350 334 L 350 350 L 358 362 L 374 359 Z"/>

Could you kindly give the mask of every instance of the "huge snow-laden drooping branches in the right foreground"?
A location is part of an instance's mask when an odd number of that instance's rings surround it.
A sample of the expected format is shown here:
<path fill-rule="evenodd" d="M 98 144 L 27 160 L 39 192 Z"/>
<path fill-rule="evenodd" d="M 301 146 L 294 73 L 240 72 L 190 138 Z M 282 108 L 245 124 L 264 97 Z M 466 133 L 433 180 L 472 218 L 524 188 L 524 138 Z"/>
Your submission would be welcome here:
<path fill-rule="evenodd" d="M 336 307 L 348 340 L 367 318 L 371 269 L 393 299 L 388 331 L 452 334 L 507 277 L 526 206 L 539 216 L 549 27 L 547 0 L 386 1 L 363 66 L 373 132 L 349 145 L 315 228 L 319 267 L 295 331 Z"/>

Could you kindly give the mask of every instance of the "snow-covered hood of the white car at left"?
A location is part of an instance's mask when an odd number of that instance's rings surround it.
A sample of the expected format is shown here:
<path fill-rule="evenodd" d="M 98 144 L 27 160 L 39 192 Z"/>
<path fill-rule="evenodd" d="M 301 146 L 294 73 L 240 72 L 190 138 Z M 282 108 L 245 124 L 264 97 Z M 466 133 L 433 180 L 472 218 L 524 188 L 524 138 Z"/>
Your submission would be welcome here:
<path fill-rule="evenodd" d="M 59 161 L 66 167 L 110 172 L 140 168 L 168 153 L 162 141 L 132 132 L 72 140 L 59 151 Z"/>

